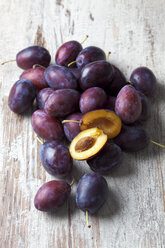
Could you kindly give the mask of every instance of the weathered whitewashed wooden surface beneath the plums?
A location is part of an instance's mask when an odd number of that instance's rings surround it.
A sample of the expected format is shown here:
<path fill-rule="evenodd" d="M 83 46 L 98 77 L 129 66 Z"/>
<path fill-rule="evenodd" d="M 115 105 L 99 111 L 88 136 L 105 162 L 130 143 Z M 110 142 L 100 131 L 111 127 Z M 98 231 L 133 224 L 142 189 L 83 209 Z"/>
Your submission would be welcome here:
<path fill-rule="evenodd" d="M 140 0 L 1 0 L 0 61 L 22 48 L 39 44 L 52 54 L 65 41 L 89 39 L 84 46 L 111 50 L 111 61 L 127 77 L 139 65 L 158 78 L 151 118 L 145 125 L 153 140 L 165 143 L 165 2 Z M 164 248 L 165 153 L 152 144 L 125 154 L 120 168 L 107 176 L 110 196 L 86 227 L 76 208 L 75 190 L 57 214 L 36 211 L 37 189 L 53 177 L 39 161 L 39 144 L 30 116 L 9 111 L 10 87 L 21 70 L 10 63 L 0 68 L 0 247 L 2 248 Z M 87 172 L 75 163 L 74 176 Z"/>

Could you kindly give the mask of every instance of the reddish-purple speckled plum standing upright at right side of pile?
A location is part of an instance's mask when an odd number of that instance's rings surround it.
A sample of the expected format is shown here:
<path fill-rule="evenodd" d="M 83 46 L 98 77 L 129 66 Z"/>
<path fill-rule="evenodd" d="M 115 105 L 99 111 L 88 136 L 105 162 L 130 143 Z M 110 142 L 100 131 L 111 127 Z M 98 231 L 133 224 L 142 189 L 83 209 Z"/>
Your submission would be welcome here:
<path fill-rule="evenodd" d="M 131 85 L 124 86 L 117 95 L 115 102 L 115 112 L 124 123 L 135 122 L 142 111 L 140 97 Z"/>

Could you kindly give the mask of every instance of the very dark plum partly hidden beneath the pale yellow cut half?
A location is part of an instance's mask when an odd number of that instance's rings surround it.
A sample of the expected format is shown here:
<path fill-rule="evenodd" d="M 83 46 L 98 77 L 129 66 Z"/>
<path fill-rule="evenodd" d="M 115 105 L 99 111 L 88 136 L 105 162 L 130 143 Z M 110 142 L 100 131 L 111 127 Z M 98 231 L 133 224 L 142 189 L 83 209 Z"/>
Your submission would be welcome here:
<path fill-rule="evenodd" d="M 103 149 L 93 158 L 87 160 L 90 169 L 101 174 L 108 174 L 111 169 L 122 162 L 123 154 L 114 143 L 106 143 Z"/>

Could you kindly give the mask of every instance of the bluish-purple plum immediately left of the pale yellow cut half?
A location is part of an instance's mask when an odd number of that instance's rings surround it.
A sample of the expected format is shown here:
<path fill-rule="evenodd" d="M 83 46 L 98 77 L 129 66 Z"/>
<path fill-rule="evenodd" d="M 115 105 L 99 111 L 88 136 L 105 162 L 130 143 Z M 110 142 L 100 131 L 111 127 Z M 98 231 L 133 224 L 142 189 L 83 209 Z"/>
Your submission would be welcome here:
<path fill-rule="evenodd" d="M 45 170 L 51 175 L 65 177 L 72 171 L 73 160 L 69 150 L 59 141 L 42 144 L 40 147 L 40 159 Z"/>

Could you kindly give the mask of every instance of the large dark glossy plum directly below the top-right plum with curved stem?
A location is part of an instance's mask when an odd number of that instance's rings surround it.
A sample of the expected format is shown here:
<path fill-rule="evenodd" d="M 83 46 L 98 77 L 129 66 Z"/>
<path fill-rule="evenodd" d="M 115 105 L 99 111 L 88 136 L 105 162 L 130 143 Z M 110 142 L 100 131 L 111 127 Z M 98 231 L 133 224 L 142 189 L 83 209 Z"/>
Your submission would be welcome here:
<path fill-rule="evenodd" d="M 80 87 L 86 90 L 91 87 L 105 88 L 111 83 L 113 69 L 109 62 L 104 60 L 87 64 L 81 71 Z"/>

